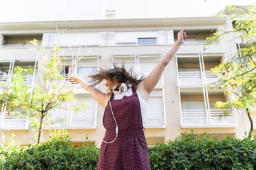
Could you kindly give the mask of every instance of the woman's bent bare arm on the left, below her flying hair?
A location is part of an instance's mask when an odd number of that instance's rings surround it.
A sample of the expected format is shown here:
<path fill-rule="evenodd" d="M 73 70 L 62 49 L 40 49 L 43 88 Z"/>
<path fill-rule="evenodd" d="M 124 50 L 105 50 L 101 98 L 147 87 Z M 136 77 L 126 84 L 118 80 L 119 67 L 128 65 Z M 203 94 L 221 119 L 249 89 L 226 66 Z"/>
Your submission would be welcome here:
<path fill-rule="evenodd" d="M 89 92 L 90 95 L 100 104 L 100 106 L 103 106 L 105 108 L 107 104 L 107 100 L 109 99 L 109 95 L 106 93 L 101 92 L 98 90 L 98 88 L 95 88 L 94 86 L 89 86 L 85 80 L 81 79 L 81 77 L 72 76 L 69 77 L 67 80 L 69 80 L 72 84 L 80 84 L 85 90 Z"/>

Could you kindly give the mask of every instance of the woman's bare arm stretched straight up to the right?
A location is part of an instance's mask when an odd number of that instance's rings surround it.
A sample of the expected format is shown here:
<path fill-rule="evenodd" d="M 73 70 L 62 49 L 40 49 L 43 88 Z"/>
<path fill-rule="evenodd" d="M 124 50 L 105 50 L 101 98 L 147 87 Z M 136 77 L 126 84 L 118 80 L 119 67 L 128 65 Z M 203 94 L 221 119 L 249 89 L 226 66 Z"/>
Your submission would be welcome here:
<path fill-rule="evenodd" d="M 178 32 L 178 40 L 173 45 L 173 47 L 167 52 L 167 54 L 158 62 L 158 64 L 153 68 L 151 73 L 145 80 L 142 80 L 140 84 L 138 84 L 138 92 L 145 97 L 146 100 L 149 99 L 149 94 L 155 88 L 156 84 L 158 84 L 158 81 L 162 75 L 162 72 L 165 69 L 165 66 L 171 61 L 171 59 L 175 56 L 175 53 L 180 49 L 180 46 L 182 45 L 182 41 L 186 39 L 186 32 L 184 32 L 186 29 L 182 29 L 180 32 Z M 183 37 L 182 37 L 183 36 Z"/>

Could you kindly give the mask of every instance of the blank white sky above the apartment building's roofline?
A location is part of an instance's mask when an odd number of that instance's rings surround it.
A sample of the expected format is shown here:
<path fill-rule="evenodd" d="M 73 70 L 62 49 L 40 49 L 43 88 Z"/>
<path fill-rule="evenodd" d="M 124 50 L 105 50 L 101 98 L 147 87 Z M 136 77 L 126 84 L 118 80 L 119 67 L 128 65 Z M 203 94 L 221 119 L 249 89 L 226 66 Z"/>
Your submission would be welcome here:
<path fill-rule="evenodd" d="M 104 19 L 107 9 L 117 19 L 213 16 L 226 5 L 252 5 L 256 0 L 0 0 L 0 23 Z"/>

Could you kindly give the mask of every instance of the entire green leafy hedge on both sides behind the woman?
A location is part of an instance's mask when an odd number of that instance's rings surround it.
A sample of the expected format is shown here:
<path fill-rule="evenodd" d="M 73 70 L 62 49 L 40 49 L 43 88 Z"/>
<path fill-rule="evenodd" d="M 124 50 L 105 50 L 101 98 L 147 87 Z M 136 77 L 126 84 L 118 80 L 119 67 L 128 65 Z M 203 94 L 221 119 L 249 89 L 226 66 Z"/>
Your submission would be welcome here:
<path fill-rule="evenodd" d="M 13 140 L 13 139 L 12 139 Z M 74 148 L 65 130 L 56 130 L 50 141 L 21 147 L 10 141 L 0 146 L 0 169 L 96 169 L 96 145 Z M 151 169 L 256 169 L 256 141 L 226 136 L 217 141 L 182 133 L 167 144 L 149 147 Z"/>

